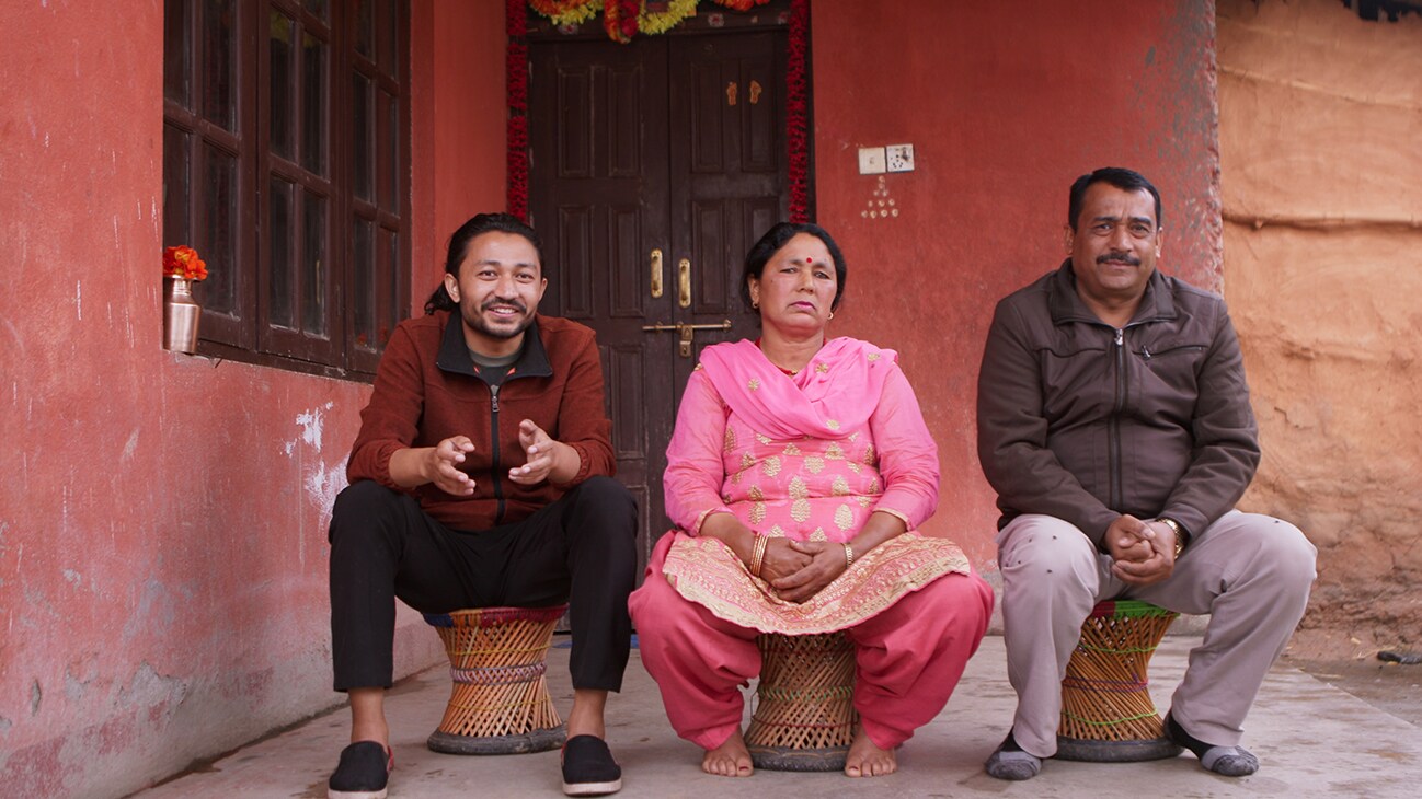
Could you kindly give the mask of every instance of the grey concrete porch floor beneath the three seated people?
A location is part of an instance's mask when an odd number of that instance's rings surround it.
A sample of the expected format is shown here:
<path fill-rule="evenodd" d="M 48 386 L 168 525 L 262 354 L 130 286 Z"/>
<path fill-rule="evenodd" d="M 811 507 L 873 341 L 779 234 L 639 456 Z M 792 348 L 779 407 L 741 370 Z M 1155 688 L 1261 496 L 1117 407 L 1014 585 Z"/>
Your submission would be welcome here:
<path fill-rule="evenodd" d="M 1150 664 L 1162 709 L 1185 671 L 1193 636 L 1169 636 Z M 549 682 L 567 712 L 566 638 L 549 657 Z M 439 755 L 425 748 L 449 698 L 447 668 L 397 685 L 387 704 L 395 751 L 392 798 L 560 796 L 557 752 L 498 758 Z M 983 761 L 1005 734 L 1015 697 L 1007 682 L 1003 638 L 991 636 L 968 664 L 953 701 L 899 754 L 887 778 L 849 781 L 839 773 L 757 772 L 749 779 L 701 773 L 701 752 L 667 724 L 656 685 L 633 651 L 627 684 L 609 702 L 609 742 L 623 766 L 620 798 L 782 796 L 1331 796 L 1369 799 L 1422 793 L 1422 729 L 1321 682 L 1276 665 L 1251 712 L 1243 745 L 1258 755 L 1254 776 L 1227 779 L 1200 769 L 1192 755 L 1146 763 L 1048 761 L 1028 782 L 1000 782 Z M 252 744 L 138 799 L 205 796 L 326 796 L 326 779 L 347 742 L 348 715 L 336 711 Z"/>

